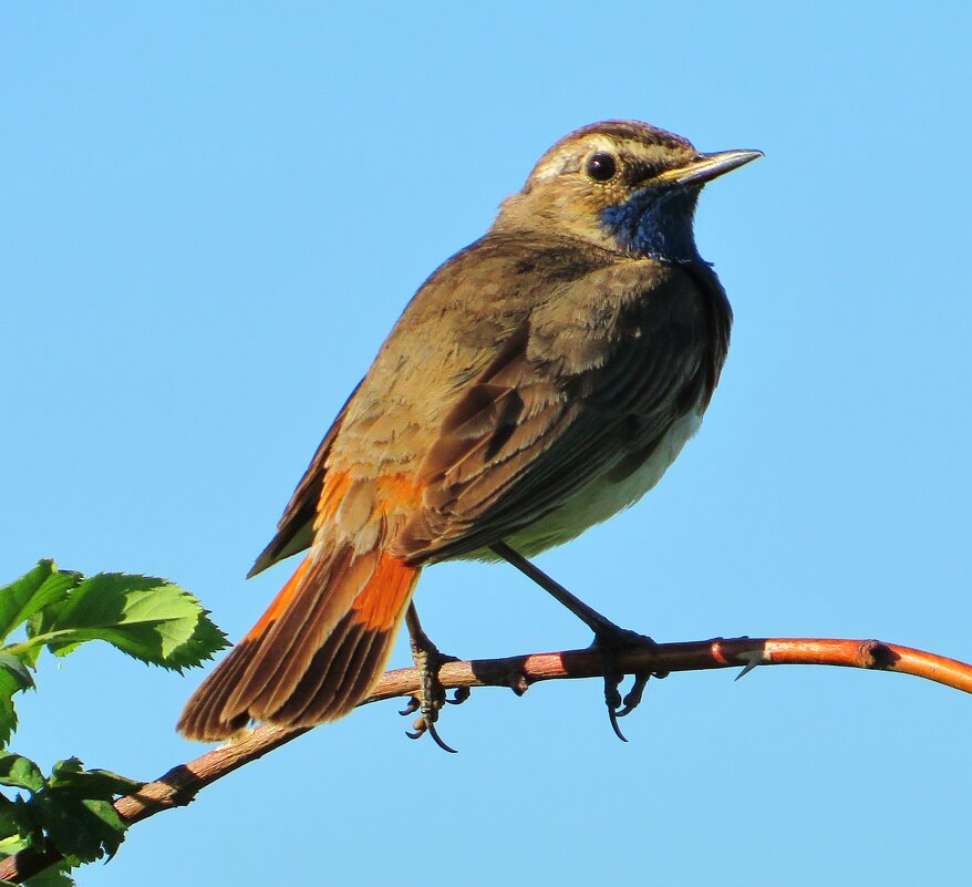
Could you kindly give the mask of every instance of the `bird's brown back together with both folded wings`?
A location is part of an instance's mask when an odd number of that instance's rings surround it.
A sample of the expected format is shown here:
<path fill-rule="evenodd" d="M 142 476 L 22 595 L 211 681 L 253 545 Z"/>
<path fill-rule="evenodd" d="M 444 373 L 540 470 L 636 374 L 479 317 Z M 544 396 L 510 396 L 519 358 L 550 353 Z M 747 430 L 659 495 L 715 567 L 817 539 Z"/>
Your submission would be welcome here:
<path fill-rule="evenodd" d="M 389 476 L 421 487 L 395 543 L 414 561 L 495 543 L 624 471 L 685 411 L 678 395 L 699 375 L 687 279 L 523 236 L 454 256 L 406 307 L 250 575 L 312 544 L 335 468 L 362 488 Z"/>

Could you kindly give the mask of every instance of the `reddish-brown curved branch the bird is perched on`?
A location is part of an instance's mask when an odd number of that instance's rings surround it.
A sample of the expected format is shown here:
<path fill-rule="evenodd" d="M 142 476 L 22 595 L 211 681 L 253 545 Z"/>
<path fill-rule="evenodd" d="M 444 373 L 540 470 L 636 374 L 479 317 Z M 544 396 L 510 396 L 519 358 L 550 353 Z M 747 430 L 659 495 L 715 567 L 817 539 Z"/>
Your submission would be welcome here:
<path fill-rule="evenodd" d="M 826 638 L 734 638 L 662 643 L 654 650 L 621 653 L 618 664 L 627 673 L 671 672 L 704 669 L 753 668 L 755 666 L 841 666 L 914 674 L 972 693 L 972 666 L 942 656 L 877 640 L 834 640 Z M 440 679 L 447 689 L 509 687 L 517 693 L 538 681 L 602 675 L 600 656 L 592 650 L 536 653 L 508 659 L 479 659 L 448 662 Z M 361 704 L 393 697 L 407 697 L 418 689 L 415 669 L 385 673 Z M 237 767 L 262 757 L 267 752 L 308 732 L 310 728 L 285 730 L 260 726 L 244 733 L 200 757 L 173 767 L 135 794 L 118 798 L 115 808 L 128 824 L 141 822 L 164 809 L 188 804 L 211 782 Z M 0 863 L 0 881 L 21 881 L 61 860 L 55 850 L 23 850 Z"/>

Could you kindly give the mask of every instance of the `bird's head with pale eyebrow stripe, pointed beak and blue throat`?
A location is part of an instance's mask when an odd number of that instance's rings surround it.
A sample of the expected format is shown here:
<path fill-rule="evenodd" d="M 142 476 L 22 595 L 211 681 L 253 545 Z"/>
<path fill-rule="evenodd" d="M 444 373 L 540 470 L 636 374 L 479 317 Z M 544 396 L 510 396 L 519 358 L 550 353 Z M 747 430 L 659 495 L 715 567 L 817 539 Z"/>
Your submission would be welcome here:
<path fill-rule="evenodd" d="M 540 158 L 523 190 L 503 203 L 494 229 L 550 231 L 662 261 L 693 261 L 702 186 L 759 156 L 702 154 L 639 121 L 593 123 Z"/>

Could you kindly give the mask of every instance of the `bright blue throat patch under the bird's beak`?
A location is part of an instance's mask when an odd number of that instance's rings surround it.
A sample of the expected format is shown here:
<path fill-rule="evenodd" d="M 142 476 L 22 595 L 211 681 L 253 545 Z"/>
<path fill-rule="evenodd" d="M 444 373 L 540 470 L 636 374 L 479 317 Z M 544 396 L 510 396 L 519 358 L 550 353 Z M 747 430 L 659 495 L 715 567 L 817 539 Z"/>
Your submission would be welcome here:
<path fill-rule="evenodd" d="M 700 190 L 643 188 L 623 204 L 604 209 L 601 224 L 629 252 L 674 265 L 702 261 L 692 230 Z"/>

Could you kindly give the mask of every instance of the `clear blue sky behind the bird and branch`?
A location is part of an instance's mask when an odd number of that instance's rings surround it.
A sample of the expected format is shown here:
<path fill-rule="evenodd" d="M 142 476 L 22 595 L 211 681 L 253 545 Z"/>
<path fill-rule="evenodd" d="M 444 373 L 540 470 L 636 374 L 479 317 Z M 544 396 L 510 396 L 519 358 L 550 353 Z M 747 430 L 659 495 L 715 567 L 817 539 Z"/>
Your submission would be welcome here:
<path fill-rule="evenodd" d="M 733 348 L 662 484 L 541 566 L 660 640 L 972 658 L 969 4 L 323 7 L 0 11 L 0 577 L 162 575 L 239 637 L 287 568 L 244 575 L 414 289 L 548 145 L 625 116 L 766 152 L 699 213 Z M 417 601 L 464 658 L 589 641 L 510 568 L 436 567 Z M 14 746 L 154 777 L 204 750 L 173 730 L 200 678 L 42 660 Z M 475 692 L 442 722 L 458 755 L 370 706 L 80 883 L 968 879 L 968 697 L 674 675 L 625 745 L 600 692 Z"/>

